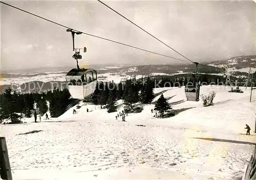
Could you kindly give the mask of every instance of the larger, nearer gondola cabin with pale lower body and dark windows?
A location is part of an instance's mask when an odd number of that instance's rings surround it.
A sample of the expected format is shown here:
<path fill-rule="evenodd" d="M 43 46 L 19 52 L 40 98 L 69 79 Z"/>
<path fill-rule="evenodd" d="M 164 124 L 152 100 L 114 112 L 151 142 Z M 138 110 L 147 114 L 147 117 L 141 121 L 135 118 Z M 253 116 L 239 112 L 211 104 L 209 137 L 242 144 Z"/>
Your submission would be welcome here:
<path fill-rule="evenodd" d="M 66 75 L 66 83 L 73 99 L 88 99 L 97 86 L 97 72 L 93 69 L 72 69 Z"/>

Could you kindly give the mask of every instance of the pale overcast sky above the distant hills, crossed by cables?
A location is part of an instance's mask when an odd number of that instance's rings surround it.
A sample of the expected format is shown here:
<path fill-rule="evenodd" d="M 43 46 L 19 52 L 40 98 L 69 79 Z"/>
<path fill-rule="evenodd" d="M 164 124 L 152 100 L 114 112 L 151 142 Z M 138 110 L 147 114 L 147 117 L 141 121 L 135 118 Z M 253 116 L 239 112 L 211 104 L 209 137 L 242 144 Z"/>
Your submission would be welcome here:
<path fill-rule="evenodd" d="M 103 1 L 103 0 L 102 0 Z M 82 32 L 181 58 L 131 22 L 95 1 L 12 2 L 8 4 Z M 193 61 L 255 55 L 254 2 L 103 1 Z M 2 69 L 76 67 L 67 29 L 1 5 Z M 80 64 L 172 64 L 181 61 L 77 35 L 75 47 L 87 47 Z"/>

